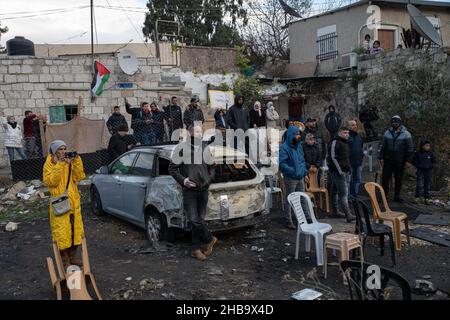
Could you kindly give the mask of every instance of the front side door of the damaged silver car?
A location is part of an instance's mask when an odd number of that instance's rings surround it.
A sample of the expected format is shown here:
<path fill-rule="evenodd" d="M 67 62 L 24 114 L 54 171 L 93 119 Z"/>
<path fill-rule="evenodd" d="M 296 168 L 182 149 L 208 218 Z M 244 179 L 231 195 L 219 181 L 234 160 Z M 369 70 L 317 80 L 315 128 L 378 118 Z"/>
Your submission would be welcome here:
<path fill-rule="evenodd" d="M 127 153 L 119 157 L 109 167 L 109 174 L 104 175 L 102 183 L 97 186 L 100 192 L 103 208 L 114 215 L 123 212 L 122 181 L 131 170 L 136 152 Z"/>

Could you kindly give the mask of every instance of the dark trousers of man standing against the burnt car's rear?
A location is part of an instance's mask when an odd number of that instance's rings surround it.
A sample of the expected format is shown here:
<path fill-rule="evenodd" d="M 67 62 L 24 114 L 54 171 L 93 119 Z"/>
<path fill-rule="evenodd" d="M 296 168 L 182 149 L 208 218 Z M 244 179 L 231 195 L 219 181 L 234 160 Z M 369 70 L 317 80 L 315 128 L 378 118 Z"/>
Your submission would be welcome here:
<path fill-rule="evenodd" d="M 213 240 L 205 224 L 208 205 L 208 190 L 195 191 L 183 189 L 183 206 L 192 227 L 192 251 L 199 250 Z"/>

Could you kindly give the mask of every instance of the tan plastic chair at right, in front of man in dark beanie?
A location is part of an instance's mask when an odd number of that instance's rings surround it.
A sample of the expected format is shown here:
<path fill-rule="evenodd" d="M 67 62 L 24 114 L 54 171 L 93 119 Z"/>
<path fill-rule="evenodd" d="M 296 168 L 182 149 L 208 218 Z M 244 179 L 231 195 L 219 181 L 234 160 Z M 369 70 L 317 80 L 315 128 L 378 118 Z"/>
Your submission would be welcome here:
<path fill-rule="evenodd" d="M 411 244 L 410 238 L 409 238 L 409 227 L 408 227 L 408 216 L 404 212 L 399 211 L 392 211 L 389 208 L 389 205 L 387 203 L 386 194 L 384 193 L 384 189 L 382 186 L 380 186 L 378 183 L 375 182 L 367 182 L 364 184 L 364 188 L 366 189 L 367 193 L 370 197 L 370 202 L 372 203 L 373 207 L 373 219 L 374 222 L 376 220 L 379 220 L 381 223 L 383 223 L 384 220 L 392 222 L 392 233 L 394 235 L 394 242 L 395 242 L 395 249 L 397 251 L 400 251 L 402 248 L 402 235 L 401 235 L 401 222 L 405 224 L 405 231 L 406 231 L 406 238 L 408 239 L 408 245 Z M 377 189 L 381 193 L 381 198 L 383 201 L 383 206 L 386 211 L 381 211 L 380 205 L 378 203 L 377 199 Z"/>

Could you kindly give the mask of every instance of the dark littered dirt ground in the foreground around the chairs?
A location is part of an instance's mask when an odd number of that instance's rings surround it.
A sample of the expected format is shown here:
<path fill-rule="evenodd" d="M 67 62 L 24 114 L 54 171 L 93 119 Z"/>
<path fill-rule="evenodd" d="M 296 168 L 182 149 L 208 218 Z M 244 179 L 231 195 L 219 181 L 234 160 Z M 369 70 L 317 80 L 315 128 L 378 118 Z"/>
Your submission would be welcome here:
<path fill-rule="evenodd" d="M 29 209 L 17 231 L 1 227 L 0 299 L 55 299 L 45 261 L 52 256 L 50 229 L 42 206 Z M 430 211 L 430 206 L 424 210 Z M 321 299 L 349 299 L 336 264 L 329 265 L 324 279 L 322 268 L 315 266 L 314 251 L 305 253 L 303 242 L 299 260 L 294 259 L 295 231 L 284 227 L 278 210 L 258 226 L 219 234 L 205 262 L 189 256 L 189 235 L 156 252 L 144 231 L 133 225 L 111 216 L 91 216 L 86 204 L 83 217 L 91 268 L 104 299 L 286 300 L 304 288 L 320 291 Z M 5 219 L 0 221 L 5 224 Z M 344 219 L 321 222 L 330 223 L 334 231 L 354 229 Z M 377 245 L 369 244 L 365 255 L 366 261 L 391 268 L 389 250 L 381 257 Z M 337 258 L 330 254 L 329 261 Z M 412 287 L 425 276 L 439 289 L 438 294 L 413 299 L 449 299 L 449 264 L 449 248 L 413 239 L 410 247 L 397 252 L 393 270 Z"/>

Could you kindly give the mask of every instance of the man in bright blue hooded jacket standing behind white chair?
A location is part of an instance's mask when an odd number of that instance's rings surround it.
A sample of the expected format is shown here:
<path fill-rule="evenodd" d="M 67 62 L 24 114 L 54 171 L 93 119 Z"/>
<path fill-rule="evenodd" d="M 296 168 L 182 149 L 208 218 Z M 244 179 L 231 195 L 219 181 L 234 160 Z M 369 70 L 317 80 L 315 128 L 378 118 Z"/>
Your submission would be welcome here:
<path fill-rule="evenodd" d="M 306 170 L 305 157 L 301 144 L 302 132 L 297 126 L 287 129 L 286 141 L 281 145 L 279 155 L 279 167 L 284 177 L 286 196 L 296 191 L 305 191 L 305 182 L 308 182 L 308 171 Z M 287 203 L 287 201 L 286 201 Z M 287 204 L 288 228 L 295 229 L 291 208 Z"/>

